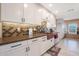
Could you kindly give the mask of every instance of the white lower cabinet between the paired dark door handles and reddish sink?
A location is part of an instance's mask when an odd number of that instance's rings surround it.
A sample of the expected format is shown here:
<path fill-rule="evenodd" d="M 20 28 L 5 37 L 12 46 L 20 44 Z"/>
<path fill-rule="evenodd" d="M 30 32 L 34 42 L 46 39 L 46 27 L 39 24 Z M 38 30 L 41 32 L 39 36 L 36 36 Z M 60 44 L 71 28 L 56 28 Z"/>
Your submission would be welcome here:
<path fill-rule="evenodd" d="M 47 51 L 47 36 L 34 38 L 28 41 L 30 50 L 28 56 L 40 56 Z"/>

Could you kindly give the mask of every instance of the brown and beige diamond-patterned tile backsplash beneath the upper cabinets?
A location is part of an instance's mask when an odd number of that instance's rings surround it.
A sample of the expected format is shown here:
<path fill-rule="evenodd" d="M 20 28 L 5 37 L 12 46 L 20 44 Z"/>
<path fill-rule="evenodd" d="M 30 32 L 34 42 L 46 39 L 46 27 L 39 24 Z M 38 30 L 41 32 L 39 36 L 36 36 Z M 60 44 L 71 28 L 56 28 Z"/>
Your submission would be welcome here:
<path fill-rule="evenodd" d="M 11 22 L 2 22 L 2 37 L 15 37 L 15 36 L 24 36 L 29 35 L 29 28 L 32 28 L 33 31 L 38 30 L 38 25 L 24 24 L 24 23 L 11 23 Z"/>

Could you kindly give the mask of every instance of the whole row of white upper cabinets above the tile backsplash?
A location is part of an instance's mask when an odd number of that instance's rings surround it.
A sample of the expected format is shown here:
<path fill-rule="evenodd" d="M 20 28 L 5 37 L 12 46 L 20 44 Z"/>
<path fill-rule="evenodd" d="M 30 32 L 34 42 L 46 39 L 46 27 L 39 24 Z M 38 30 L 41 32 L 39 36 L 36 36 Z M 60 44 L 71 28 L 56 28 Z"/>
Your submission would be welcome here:
<path fill-rule="evenodd" d="M 2 3 L 1 21 L 30 23 L 41 25 L 42 21 L 49 21 L 53 27 L 55 17 L 43 8 L 40 4 L 34 3 Z"/>

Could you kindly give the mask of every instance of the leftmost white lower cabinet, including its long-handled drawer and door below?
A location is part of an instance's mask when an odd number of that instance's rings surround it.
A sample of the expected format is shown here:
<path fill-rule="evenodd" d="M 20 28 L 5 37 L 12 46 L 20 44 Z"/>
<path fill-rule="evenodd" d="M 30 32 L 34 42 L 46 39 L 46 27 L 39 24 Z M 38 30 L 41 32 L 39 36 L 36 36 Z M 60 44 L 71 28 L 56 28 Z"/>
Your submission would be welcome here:
<path fill-rule="evenodd" d="M 0 46 L 0 56 L 27 56 L 27 41 Z"/>

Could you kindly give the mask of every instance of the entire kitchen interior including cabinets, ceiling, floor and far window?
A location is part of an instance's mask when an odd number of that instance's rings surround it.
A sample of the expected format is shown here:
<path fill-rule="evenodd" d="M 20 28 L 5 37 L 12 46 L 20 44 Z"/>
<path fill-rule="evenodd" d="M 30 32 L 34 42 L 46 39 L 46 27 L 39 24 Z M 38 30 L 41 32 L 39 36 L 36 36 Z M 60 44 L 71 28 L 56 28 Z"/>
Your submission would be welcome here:
<path fill-rule="evenodd" d="M 0 3 L 0 56 L 79 55 L 78 5 Z"/>

